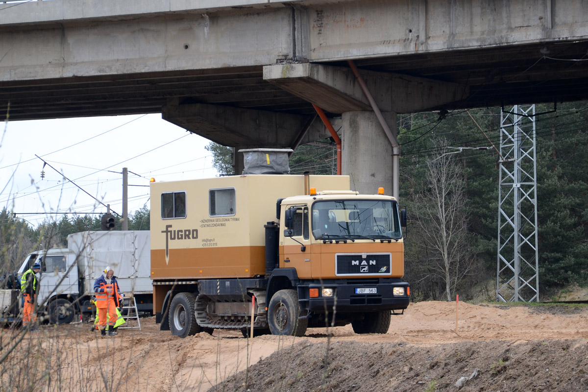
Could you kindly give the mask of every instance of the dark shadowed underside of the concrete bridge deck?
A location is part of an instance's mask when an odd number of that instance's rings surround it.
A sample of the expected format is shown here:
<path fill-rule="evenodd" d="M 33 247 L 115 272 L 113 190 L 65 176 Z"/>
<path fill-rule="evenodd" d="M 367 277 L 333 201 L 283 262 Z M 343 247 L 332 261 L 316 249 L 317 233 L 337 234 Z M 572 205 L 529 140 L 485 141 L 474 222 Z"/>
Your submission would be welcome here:
<path fill-rule="evenodd" d="M 588 41 L 383 56 L 355 64 L 467 86 L 469 93 L 453 102 L 419 108 L 451 110 L 588 99 L 588 61 L 578 59 L 588 59 Z M 323 64 L 349 68 L 346 62 Z M 0 82 L 2 118 L 8 110 L 10 120 L 161 113 L 166 105 L 192 103 L 314 113 L 308 100 L 265 81 L 261 65 Z"/>

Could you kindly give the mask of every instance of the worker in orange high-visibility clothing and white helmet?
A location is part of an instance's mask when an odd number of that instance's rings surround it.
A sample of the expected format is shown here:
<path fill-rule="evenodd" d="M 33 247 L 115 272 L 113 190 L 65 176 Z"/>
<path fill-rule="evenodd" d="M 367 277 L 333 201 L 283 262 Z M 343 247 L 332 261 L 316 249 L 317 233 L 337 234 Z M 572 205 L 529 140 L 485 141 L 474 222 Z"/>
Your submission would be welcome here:
<path fill-rule="evenodd" d="M 114 270 L 106 267 L 104 273 L 94 282 L 96 293 L 96 309 L 98 310 L 98 326 L 102 336 L 106 336 L 106 317 L 108 316 L 108 336 L 114 336 L 113 328 L 116 324 L 116 308 L 121 303 L 122 296 L 114 276 Z"/>

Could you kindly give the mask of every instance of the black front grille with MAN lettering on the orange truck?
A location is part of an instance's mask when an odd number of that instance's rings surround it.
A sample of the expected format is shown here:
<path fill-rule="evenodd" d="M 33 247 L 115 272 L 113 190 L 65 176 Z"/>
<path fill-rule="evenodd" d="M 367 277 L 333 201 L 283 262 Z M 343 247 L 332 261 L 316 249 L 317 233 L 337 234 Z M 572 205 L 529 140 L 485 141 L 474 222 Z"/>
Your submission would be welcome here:
<path fill-rule="evenodd" d="M 337 253 L 335 255 L 336 276 L 390 276 L 391 274 L 392 254 L 390 253 Z"/>

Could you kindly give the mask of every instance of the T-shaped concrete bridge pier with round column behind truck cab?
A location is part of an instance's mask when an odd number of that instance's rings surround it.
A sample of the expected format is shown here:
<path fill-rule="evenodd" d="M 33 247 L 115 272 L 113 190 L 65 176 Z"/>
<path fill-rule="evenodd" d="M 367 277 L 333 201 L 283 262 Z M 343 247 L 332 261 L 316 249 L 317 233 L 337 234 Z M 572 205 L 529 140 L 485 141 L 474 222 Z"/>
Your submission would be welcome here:
<path fill-rule="evenodd" d="M 373 103 L 396 138 L 396 113 L 412 113 L 455 102 L 467 96 L 465 86 L 407 75 L 359 71 Z M 263 79 L 306 99 L 325 112 L 341 113 L 342 173 L 361 193 L 375 193 L 383 186 L 394 195 L 393 148 L 372 103 L 352 69 L 297 63 L 263 67 Z"/>

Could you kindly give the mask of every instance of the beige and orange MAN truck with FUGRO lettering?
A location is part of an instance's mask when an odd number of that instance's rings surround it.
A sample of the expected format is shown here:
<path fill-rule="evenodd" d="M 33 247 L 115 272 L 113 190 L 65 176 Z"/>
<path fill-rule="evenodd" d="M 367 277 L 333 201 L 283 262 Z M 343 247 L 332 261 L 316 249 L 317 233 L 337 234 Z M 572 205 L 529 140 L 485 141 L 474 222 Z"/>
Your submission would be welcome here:
<path fill-rule="evenodd" d="M 394 197 L 351 191 L 348 176 L 152 182 L 156 322 L 180 337 L 386 333 L 409 304 L 405 225 Z"/>

